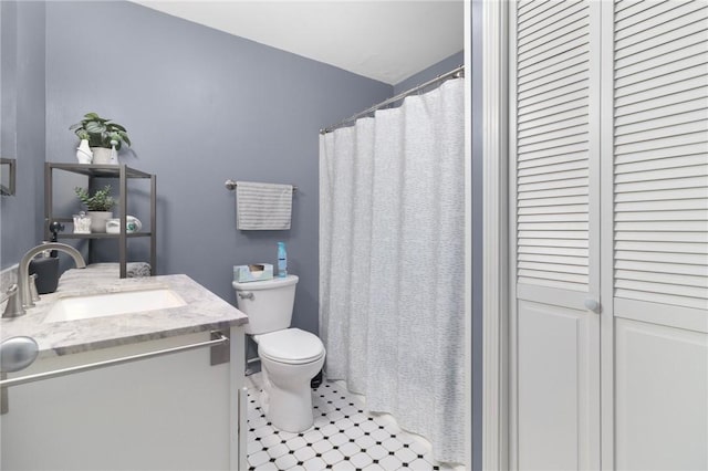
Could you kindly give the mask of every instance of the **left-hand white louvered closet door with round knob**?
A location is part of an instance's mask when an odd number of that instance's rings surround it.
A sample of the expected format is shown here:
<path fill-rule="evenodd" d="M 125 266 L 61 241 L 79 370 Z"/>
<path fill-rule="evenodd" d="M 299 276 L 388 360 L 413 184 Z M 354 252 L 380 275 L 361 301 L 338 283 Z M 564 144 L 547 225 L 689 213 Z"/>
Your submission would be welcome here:
<path fill-rule="evenodd" d="M 522 470 L 600 464 L 600 317 L 585 306 L 600 290 L 598 17 L 595 1 L 512 3 L 511 414 Z"/>

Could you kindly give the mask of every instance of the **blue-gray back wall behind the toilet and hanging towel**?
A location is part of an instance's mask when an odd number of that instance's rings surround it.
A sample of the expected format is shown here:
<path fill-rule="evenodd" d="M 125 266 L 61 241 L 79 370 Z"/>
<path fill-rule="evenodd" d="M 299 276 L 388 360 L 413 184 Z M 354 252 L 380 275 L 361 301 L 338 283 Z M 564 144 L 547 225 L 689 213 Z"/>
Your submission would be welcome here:
<path fill-rule="evenodd" d="M 293 324 L 308 331 L 317 332 L 317 132 L 392 92 L 134 3 L 46 3 L 46 160 L 75 160 L 67 127 L 86 112 L 125 125 L 134 146 L 122 161 L 157 175 L 158 273 L 235 302 L 232 265 L 275 263 L 285 241 L 300 275 Z M 228 178 L 296 185 L 292 229 L 238 231 Z"/>

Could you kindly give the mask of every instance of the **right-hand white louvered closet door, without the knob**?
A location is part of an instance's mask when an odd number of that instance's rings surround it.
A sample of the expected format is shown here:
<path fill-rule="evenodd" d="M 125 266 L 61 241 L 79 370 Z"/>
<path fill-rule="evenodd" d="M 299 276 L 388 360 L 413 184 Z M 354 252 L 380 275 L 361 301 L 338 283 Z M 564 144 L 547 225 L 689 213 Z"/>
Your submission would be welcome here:
<path fill-rule="evenodd" d="M 614 316 L 615 462 L 706 470 L 708 2 L 618 1 L 603 19 L 614 29 L 603 293 Z"/>

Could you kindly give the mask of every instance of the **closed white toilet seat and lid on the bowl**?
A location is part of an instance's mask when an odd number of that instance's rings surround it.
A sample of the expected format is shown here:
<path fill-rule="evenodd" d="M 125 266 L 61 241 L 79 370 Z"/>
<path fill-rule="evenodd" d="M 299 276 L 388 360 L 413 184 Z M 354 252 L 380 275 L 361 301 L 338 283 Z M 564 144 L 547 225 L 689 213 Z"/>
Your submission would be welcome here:
<path fill-rule="evenodd" d="M 254 335 L 258 354 L 272 362 L 302 365 L 316 362 L 324 355 L 322 341 L 299 328 L 285 328 L 262 335 Z"/>

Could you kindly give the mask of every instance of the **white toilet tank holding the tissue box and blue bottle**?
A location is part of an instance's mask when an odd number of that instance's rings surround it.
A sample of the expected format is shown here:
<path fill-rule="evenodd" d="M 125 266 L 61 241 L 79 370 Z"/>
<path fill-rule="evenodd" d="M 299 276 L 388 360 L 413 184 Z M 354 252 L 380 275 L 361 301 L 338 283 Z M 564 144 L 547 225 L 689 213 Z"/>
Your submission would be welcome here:
<path fill-rule="evenodd" d="M 248 315 L 246 333 L 258 335 L 290 327 L 295 284 L 298 276 L 292 274 L 267 281 L 231 282 L 236 306 Z"/>

